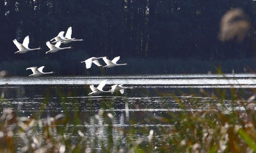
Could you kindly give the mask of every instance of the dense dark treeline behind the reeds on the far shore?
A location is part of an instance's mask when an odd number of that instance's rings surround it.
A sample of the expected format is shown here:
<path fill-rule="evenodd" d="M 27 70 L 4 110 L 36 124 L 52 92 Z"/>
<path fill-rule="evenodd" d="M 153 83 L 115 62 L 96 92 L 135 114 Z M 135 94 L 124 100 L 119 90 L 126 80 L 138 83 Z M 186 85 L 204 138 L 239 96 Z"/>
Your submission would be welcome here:
<path fill-rule="evenodd" d="M 251 49 L 254 42 L 244 40 L 237 44 L 218 39 L 221 17 L 236 7 L 244 10 L 256 27 L 254 0 L 3 0 L 0 60 L 56 60 L 64 65 L 90 56 L 249 58 L 254 53 Z M 85 41 L 63 44 L 74 49 L 46 55 L 49 50 L 46 41 L 69 26 L 74 38 Z M 27 35 L 29 47 L 43 50 L 14 54 L 17 48 L 12 40 L 17 38 L 22 43 Z"/>

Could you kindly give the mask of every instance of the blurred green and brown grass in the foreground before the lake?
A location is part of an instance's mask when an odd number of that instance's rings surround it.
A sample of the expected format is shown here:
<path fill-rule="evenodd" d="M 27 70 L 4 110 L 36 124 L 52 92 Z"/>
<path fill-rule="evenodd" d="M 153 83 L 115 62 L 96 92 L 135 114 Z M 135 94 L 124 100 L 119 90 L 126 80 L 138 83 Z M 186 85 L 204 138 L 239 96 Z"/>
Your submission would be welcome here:
<path fill-rule="evenodd" d="M 11 108 L 3 108 L 0 117 L 0 152 L 255 152 L 255 96 L 246 98 L 243 92 L 230 88 L 231 108 L 228 108 L 224 103 L 226 90 L 216 89 L 212 94 L 202 89 L 200 95 L 193 91 L 189 93 L 190 96 L 173 95 L 183 111 L 162 112 L 161 115 L 152 113 L 148 118 L 130 113 L 126 121 L 131 125 L 128 127 L 113 126 L 113 113 L 105 111 L 104 107 L 95 112 L 95 121 L 82 122 L 78 110 L 71 115 L 65 101 L 62 102 L 63 114 L 55 117 L 49 114 L 44 118 L 40 114 L 37 118 L 24 117 Z M 200 106 L 194 97 L 198 96 L 208 97 L 205 104 L 217 101 L 219 105 L 197 111 Z M 4 102 L 4 99 L 1 101 Z M 44 103 L 41 109 L 47 109 L 47 98 Z M 78 102 L 75 100 L 73 103 Z M 235 103 L 242 107 L 236 109 Z M 140 127 L 138 120 L 169 126 Z M 99 126 L 98 129 L 93 128 L 95 124 Z M 107 135 L 95 136 L 101 127 L 105 128 Z"/>

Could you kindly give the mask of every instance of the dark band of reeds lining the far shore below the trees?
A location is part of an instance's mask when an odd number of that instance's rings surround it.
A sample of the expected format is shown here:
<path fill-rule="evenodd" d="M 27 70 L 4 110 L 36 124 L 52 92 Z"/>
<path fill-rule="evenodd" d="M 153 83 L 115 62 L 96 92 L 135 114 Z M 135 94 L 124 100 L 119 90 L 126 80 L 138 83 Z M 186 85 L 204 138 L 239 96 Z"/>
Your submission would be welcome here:
<path fill-rule="evenodd" d="M 74 58 L 73 58 L 74 59 Z M 80 60 L 79 60 L 80 59 Z M 86 69 L 80 63 L 86 57 L 78 60 L 16 60 L 0 62 L 0 71 L 7 71 L 9 76 L 28 76 L 31 72 L 27 67 L 45 66 L 44 71 L 54 71 L 55 75 L 115 75 L 115 74 L 195 74 L 195 73 L 254 73 L 256 72 L 256 59 L 243 58 L 232 60 L 198 60 L 176 58 L 122 58 L 118 63 L 126 62 L 126 66 L 103 68 L 92 65 Z M 111 58 L 110 58 L 111 59 Z M 32 63 L 32 64 L 31 64 Z M 100 60 L 105 66 L 103 60 Z"/>

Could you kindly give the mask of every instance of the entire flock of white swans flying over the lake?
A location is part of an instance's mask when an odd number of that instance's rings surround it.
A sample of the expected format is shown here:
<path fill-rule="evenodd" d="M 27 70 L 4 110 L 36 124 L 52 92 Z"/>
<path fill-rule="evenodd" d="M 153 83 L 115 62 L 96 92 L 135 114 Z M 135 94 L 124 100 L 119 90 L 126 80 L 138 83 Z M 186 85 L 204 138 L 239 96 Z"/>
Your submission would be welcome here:
<path fill-rule="evenodd" d="M 69 27 L 66 35 L 64 37 L 64 31 L 59 32 L 58 36 L 52 38 L 50 41 L 46 42 L 46 45 L 48 46 L 48 48 L 50 49 L 49 51 L 46 52 L 47 53 L 55 53 L 59 50 L 64 50 L 64 49 L 71 49 L 72 47 L 64 47 L 64 48 L 60 48 L 61 43 L 70 43 L 70 42 L 74 42 L 74 41 L 84 41 L 83 39 L 76 39 L 76 38 L 72 38 L 71 34 L 72 34 L 72 27 Z M 23 40 L 23 43 L 19 43 L 16 39 L 13 40 L 13 43 L 16 45 L 16 47 L 19 49 L 16 53 L 27 53 L 28 51 L 32 51 L 32 50 L 41 50 L 42 48 L 29 48 L 29 36 L 26 36 Z M 55 45 L 53 45 L 52 43 L 55 43 Z M 115 66 L 120 66 L 120 65 L 128 65 L 127 63 L 124 64 L 117 64 L 117 61 L 120 59 L 120 56 L 115 57 L 113 60 L 109 60 L 107 59 L 107 57 L 91 57 L 85 61 L 82 61 L 81 63 L 85 62 L 85 66 L 86 69 L 89 69 L 92 66 L 92 63 L 94 63 L 95 65 L 97 65 L 98 67 L 102 67 L 102 65 L 100 64 L 100 62 L 98 61 L 99 59 L 102 59 L 106 65 L 103 67 L 115 67 Z M 30 74 L 29 76 L 32 77 L 39 77 L 41 75 L 44 74 L 54 74 L 54 72 L 43 72 L 44 66 L 42 67 L 29 67 L 26 70 L 31 69 L 33 74 Z M 90 89 L 93 91 L 91 93 L 89 93 L 88 95 L 98 95 L 100 93 L 113 93 L 115 91 L 120 91 L 122 94 L 124 93 L 124 89 L 126 88 L 131 88 L 131 87 L 123 87 L 123 84 L 115 84 L 113 86 L 111 86 L 111 90 L 109 91 L 103 91 L 102 88 L 105 86 L 106 84 L 106 80 L 103 80 L 97 88 L 95 88 L 93 85 L 90 85 Z"/>

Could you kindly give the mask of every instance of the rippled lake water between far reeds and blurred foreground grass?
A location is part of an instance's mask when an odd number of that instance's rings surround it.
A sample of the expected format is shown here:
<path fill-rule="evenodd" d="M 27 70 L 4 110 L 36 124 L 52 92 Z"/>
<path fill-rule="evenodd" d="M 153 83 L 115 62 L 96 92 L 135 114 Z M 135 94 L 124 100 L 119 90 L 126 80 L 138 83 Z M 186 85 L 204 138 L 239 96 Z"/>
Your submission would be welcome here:
<path fill-rule="evenodd" d="M 114 84 L 124 84 L 133 89 L 120 92 L 88 96 L 89 85 L 95 87 L 107 80 L 104 91 Z M 78 112 L 81 124 L 88 130 L 84 133 L 94 139 L 107 139 L 107 124 L 102 112 L 110 112 L 112 126 L 115 128 L 169 128 L 171 124 L 159 124 L 148 117 L 179 111 L 204 111 L 212 108 L 243 110 L 239 100 L 230 104 L 229 88 L 241 94 L 241 97 L 254 96 L 256 74 L 163 74 L 163 75 L 119 75 L 119 76 L 42 76 L 42 77 L 3 77 L 0 78 L 1 108 L 10 107 L 20 116 L 51 117 L 68 112 Z M 216 89 L 227 89 L 218 93 Z M 205 94 L 206 93 L 206 94 Z M 212 95 L 227 94 L 225 107 Z M 177 98 L 185 105 L 181 108 Z M 211 103 L 209 103 L 209 101 Z M 193 106 L 195 103 L 195 106 Z M 2 111 L 2 109 L 1 109 Z M 41 115 L 41 116 L 39 116 Z M 134 120 L 134 123 L 128 122 Z M 106 125 L 106 126 L 105 126 Z M 73 126 L 73 125 L 70 125 Z M 122 138 L 122 132 L 114 130 L 116 139 Z M 121 135 L 121 136 L 120 136 Z M 137 137 L 147 138 L 148 134 Z M 122 143 L 126 143 L 125 140 Z M 100 149 L 100 145 L 95 145 Z"/>

